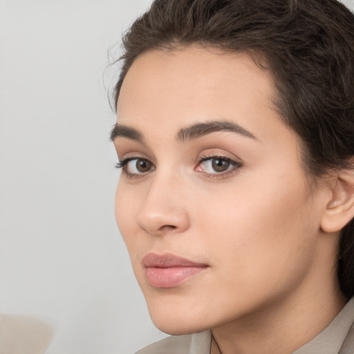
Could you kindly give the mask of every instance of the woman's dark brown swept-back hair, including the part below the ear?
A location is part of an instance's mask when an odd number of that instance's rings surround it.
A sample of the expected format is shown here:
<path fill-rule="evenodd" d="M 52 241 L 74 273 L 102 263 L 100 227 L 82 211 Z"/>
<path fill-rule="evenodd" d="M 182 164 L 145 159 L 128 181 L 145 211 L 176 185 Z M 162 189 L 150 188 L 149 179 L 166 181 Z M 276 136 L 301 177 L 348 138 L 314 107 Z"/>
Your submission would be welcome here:
<path fill-rule="evenodd" d="M 354 15 L 336 0 L 155 0 L 123 36 L 120 88 L 149 50 L 190 44 L 246 52 L 272 74 L 281 117 L 302 142 L 304 169 L 324 176 L 354 156 Z M 354 220 L 341 231 L 337 277 L 354 295 Z"/>

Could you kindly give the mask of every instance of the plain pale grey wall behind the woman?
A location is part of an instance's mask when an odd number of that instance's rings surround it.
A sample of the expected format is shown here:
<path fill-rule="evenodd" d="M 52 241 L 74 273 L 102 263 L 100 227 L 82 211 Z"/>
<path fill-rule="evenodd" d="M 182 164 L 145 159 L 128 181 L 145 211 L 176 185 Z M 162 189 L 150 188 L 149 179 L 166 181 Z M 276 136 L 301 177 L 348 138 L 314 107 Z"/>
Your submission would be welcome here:
<path fill-rule="evenodd" d="M 131 354 L 164 337 L 115 225 L 117 73 L 104 74 L 149 3 L 0 0 L 0 313 L 53 326 L 47 354 Z"/>

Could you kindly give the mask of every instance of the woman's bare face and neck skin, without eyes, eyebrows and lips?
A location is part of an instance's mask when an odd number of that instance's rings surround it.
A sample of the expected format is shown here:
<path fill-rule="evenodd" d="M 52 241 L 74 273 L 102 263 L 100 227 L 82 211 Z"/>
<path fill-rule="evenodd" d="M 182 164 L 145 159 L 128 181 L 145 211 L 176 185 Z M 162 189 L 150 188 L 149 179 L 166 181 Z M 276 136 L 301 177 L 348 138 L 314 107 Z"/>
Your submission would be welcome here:
<path fill-rule="evenodd" d="M 133 270 L 156 326 L 212 329 L 212 353 L 292 353 L 346 301 L 335 274 L 338 232 L 321 227 L 335 182 L 308 185 L 300 140 L 274 97 L 270 73 L 248 55 L 198 46 L 140 55 L 120 91 L 118 122 L 143 140 L 116 136 L 118 157 L 151 162 L 142 173 L 137 160 L 124 167 L 115 200 Z M 180 129 L 214 121 L 253 138 L 217 131 L 177 139 Z M 237 163 L 218 172 L 201 162 L 213 156 Z M 208 267 L 156 288 L 142 265 L 148 252 Z"/>

